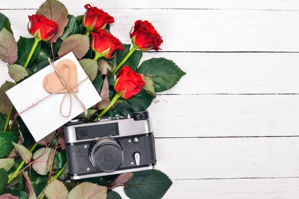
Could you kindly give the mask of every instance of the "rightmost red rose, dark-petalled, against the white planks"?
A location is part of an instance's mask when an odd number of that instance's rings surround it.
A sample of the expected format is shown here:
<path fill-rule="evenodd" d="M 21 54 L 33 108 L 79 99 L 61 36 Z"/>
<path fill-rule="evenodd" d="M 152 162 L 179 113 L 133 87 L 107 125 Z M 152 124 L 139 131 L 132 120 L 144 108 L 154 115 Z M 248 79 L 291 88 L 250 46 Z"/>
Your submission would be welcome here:
<path fill-rule="evenodd" d="M 142 51 L 158 51 L 163 42 L 162 37 L 157 33 L 149 21 L 138 20 L 135 22 L 134 31 L 130 33 L 134 45 Z"/>

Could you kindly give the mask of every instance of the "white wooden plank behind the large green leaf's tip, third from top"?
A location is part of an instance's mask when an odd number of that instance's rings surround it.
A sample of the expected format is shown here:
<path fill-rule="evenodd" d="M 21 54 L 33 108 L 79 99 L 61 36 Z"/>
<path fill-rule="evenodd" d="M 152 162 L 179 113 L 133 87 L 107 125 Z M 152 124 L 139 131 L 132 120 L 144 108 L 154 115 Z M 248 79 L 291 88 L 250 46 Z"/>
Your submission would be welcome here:
<path fill-rule="evenodd" d="M 187 74 L 163 94 L 294 94 L 298 53 L 144 53 L 173 60 Z"/>

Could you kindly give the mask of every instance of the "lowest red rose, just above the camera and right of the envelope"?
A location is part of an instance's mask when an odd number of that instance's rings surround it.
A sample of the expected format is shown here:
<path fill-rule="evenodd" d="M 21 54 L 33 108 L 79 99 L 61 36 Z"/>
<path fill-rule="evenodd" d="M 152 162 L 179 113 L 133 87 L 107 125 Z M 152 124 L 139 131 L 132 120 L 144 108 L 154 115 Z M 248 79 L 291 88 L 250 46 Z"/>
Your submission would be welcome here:
<path fill-rule="evenodd" d="M 129 99 L 140 92 L 146 83 L 140 74 L 135 73 L 129 66 L 123 66 L 114 81 L 114 90 L 124 99 Z"/>

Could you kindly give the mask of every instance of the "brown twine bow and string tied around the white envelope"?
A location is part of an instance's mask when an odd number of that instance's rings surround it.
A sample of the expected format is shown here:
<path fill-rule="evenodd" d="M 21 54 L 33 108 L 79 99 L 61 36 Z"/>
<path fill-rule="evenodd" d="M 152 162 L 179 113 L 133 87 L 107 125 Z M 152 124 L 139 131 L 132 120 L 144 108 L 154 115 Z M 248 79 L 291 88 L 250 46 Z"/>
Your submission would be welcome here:
<path fill-rule="evenodd" d="M 62 100 L 61 100 L 61 103 L 60 103 L 60 114 L 61 114 L 61 116 L 63 116 L 63 117 L 69 117 L 69 116 L 71 115 L 71 112 L 72 112 L 72 96 L 73 96 L 76 100 L 79 101 L 79 103 L 81 104 L 81 106 L 82 106 L 82 108 L 83 108 L 83 110 L 84 110 L 84 113 L 85 113 L 85 115 L 86 115 L 86 114 L 87 114 L 87 109 L 86 109 L 84 103 L 83 103 L 83 102 L 79 99 L 79 97 L 77 96 L 76 92 L 74 91 L 74 88 L 76 88 L 79 84 L 81 84 L 82 82 L 84 82 L 85 80 L 87 80 L 88 77 L 86 77 L 84 80 L 82 80 L 81 82 L 79 82 L 79 83 L 76 84 L 75 86 L 71 86 L 70 83 L 69 83 L 69 82 L 70 82 L 70 79 L 71 79 L 71 74 L 72 74 L 70 67 L 69 67 L 68 65 L 64 64 L 64 65 L 61 66 L 60 71 L 59 71 L 59 70 L 57 70 L 57 68 L 56 68 L 56 66 L 55 66 L 55 64 L 54 64 L 54 62 L 51 62 L 50 58 L 48 58 L 48 61 L 49 61 L 50 65 L 54 68 L 56 74 L 58 75 L 58 78 L 59 78 L 59 80 L 61 81 L 61 83 L 62 83 L 62 85 L 63 85 L 63 88 L 62 88 L 62 89 L 59 89 L 59 90 L 57 90 L 57 91 L 55 91 L 54 93 L 48 95 L 48 96 L 45 97 L 45 98 L 43 98 L 43 99 L 37 101 L 36 103 L 32 104 L 31 106 L 29 106 L 29 107 L 26 108 L 25 110 L 19 112 L 19 114 L 21 114 L 21 113 L 25 112 L 26 110 L 28 110 L 28 109 L 30 109 L 30 108 L 36 106 L 38 103 L 40 103 L 40 102 L 43 101 L 43 100 L 46 100 L 47 98 L 51 97 L 52 95 L 57 94 L 57 93 L 59 93 L 60 91 L 66 89 L 66 93 L 64 94 L 64 96 L 63 96 L 63 98 L 62 98 Z M 68 80 L 66 80 L 65 77 L 62 75 L 62 69 L 63 69 L 63 67 L 67 67 L 68 70 L 69 70 Z M 64 100 L 65 100 L 65 98 L 66 98 L 66 96 L 67 96 L 68 94 L 69 94 L 69 97 L 70 97 L 70 110 L 69 110 L 68 115 L 64 115 L 64 114 L 62 113 L 62 110 L 61 110 L 61 109 L 62 109 L 63 102 L 64 102 Z"/>

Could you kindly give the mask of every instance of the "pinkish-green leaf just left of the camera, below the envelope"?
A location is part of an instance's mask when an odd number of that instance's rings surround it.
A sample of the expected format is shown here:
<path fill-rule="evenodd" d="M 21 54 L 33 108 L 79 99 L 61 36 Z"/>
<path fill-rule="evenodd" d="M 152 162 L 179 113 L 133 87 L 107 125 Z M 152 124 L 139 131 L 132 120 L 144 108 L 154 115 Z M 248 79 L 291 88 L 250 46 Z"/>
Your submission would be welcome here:
<path fill-rule="evenodd" d="M 46 148 L 38 149 L 33 154 L 33 160 L 35 160 L 37 157 L 39 157 Z M 48 148 L 46 152 L 32 164 L 32 168 L 36 173 L 39 175 L 47 175 L 47 173 L 50 171 L 51 163 L 52 163 L 52 157 L 54 154 L 54 149 Z"/>

